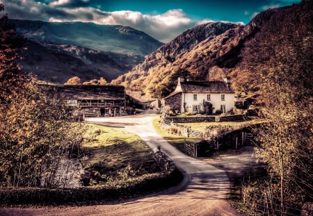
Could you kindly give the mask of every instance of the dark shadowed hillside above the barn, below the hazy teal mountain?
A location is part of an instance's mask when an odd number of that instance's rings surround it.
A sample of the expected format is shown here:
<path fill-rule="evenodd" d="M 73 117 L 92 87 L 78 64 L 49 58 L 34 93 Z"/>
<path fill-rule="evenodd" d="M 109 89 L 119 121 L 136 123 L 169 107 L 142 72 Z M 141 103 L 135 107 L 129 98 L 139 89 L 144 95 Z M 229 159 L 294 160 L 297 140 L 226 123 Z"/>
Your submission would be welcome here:
<path fill-rule="evenodd" d="M 19 61 L 22 69 L 32 72 L 39 80 L 65 83 L 73 76 L 82 81 L 103 77 L 106 81 L 129 71 L 143 61 L 142 56 L 95 51 L 83 47 L 26 42 L 24 58 Z"/>

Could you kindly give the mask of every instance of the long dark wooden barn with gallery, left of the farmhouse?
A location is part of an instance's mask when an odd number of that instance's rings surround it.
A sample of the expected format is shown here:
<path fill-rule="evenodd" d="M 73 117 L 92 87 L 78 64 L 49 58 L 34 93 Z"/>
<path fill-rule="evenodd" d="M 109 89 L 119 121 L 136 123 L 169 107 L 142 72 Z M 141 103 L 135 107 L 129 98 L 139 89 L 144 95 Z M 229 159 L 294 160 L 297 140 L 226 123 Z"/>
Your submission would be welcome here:
<path fill-rule="evenodd" d="M 127 115 L 122 85 L 41 85 L 72 109 L 73 116 L 113 117 Z"/>

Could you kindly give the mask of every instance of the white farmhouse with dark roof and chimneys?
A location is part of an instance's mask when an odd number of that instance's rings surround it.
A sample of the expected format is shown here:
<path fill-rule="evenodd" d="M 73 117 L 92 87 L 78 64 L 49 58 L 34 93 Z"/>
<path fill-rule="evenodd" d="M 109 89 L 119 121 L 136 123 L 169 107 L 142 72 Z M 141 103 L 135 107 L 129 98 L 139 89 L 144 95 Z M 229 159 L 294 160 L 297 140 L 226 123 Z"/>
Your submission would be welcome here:
<path fill-rule="evenodd" d="M 224 81 L 191 81 L 179 77 L 175 91 L 164 97 L 162 103 L 176 113 L 226 113 L 234 108 L 234 90 L 229 76 Z"/>

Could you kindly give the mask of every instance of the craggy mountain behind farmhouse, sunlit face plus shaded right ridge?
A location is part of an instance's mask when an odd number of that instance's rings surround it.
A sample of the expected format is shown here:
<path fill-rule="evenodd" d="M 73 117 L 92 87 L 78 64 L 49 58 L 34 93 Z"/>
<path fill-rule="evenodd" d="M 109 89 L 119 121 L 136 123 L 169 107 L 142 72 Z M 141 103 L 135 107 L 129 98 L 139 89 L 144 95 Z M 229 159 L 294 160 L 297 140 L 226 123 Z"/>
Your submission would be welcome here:
<path fill-rule="evenodd" d="M 146 98 L 150 99 L 172 92 L 178 76 L 195 80 L 220 80 L 238 70 L 245 44 L 253 40 L 262 26 L 271 25 L 275 22 L 273 17 L 284 17 L 293 7 L 296 6 L 268 9 L 246 26 L 218 22 L 191 28 L 112 83 L 143 90 Z"/>

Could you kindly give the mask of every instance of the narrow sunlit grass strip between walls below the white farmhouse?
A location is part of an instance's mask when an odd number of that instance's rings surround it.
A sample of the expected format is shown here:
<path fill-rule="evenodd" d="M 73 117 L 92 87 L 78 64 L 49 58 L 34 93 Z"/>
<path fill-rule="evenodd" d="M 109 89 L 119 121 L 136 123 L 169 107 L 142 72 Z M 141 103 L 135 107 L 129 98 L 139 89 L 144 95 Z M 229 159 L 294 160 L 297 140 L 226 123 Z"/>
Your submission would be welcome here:
<path fill-rule="evenodd" d="M 195 122 L 195 123 L 179 123 L 184 126 L 190 126 L 192 129 L 203 131 L 206 126 L 240 126 L 242 124 L 260 124 L 266 122 L 265 119 L 253 119 L 245 122 Z"/>

